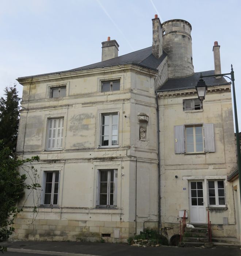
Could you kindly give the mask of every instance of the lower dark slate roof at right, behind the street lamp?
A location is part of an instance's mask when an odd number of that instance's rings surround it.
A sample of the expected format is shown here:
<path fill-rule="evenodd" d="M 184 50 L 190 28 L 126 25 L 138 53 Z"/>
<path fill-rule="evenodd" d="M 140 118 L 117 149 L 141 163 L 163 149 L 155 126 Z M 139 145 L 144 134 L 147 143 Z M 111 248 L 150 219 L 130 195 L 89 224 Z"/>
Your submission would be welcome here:
<path fill-rule="evenodd" d="M 214 75 L 214 70 L 195 72 L 193 75 L 184 78 L 169 79 L 162 86 L 160 86 L 157 91 L 176 91 L 195 88 L 198 80 L 200 79 L 199 77 L 201 73 L 203 76 Z M 215 77 L 206 77 L 203 78 L 203 80 L 207 86 L 227 84 L 227 80 L 223 77 L 218 79 Z"/>

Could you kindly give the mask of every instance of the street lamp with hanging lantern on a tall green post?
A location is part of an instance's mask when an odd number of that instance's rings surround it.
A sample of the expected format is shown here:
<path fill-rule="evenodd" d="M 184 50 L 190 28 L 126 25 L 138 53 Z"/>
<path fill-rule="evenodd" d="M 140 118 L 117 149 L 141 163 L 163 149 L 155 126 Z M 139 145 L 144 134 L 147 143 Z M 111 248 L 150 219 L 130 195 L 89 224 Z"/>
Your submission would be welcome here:
<path fill-rule="evenodd" d="M 229 77 L 230 75 L 231 77 Z M 233 86 L 233 108 L 234 108 L 234 120 L 235 120 L 235 130 L 236 130 L 236 145 L 237 145 L 237 155 L 238 155 L 238 179 L 239 179 L 239 192 L 240 192 L 240 200 L 241 200 L 241 153 L 240 153 L 240 140 L 239 140 L 239 130 L 238 130 L 238 115 L 237 115 L 237 105 L 236 105 L 236 95 L 235 95 L 235 87 L 234 87 L 234 71 L 233 71 L 233 65 L 231 64 L 231 72 L 226 74 L 218 74 L 218 75 L 209 75 L 209 76 L 203 76 L 202 73 L 200 74 L 200 80 L 198 81 L 196 85 L 196 90 L 198 92 L 198 98 L 200 101 L 203 101 L 206 94 L 207 86 L 203 80 L 204 77 L 217 77 L 217 76 L 225 76 L 229 78 L 232 81 Z M 204 89 L 204 87 L 206 88 Z M 200 88 L 200 89 L 199 89 Z M 201 89 L 202 88 L 202 89 Z M 199 91 L 202 92 L 202 95 L 199 96 Z"/>

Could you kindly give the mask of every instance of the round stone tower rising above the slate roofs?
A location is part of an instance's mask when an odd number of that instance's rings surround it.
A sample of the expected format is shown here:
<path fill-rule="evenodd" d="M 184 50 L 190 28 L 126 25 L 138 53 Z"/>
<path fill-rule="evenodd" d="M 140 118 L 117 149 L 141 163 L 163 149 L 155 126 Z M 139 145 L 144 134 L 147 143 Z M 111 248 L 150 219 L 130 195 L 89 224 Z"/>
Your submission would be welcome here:
<path fill-rule="evenodd" d="M 168 78 L 190 76 L 192 65 L 192 26 L 182 19 L 163 22 L 163 49 L 168 54 Z"/>

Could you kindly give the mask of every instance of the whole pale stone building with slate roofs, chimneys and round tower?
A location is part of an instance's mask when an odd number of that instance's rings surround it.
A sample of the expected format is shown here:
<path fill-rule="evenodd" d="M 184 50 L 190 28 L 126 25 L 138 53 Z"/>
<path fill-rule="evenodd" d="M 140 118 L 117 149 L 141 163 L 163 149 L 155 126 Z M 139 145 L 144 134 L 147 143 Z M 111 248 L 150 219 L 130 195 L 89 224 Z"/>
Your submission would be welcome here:
<path fill-rule="evenodd" d="M 206 79 L 200 102 L 190 23 L 152 23 L 148 48 L 118 57 L 108 38 L 99 63 L 18 79 L 17 154 L 39 155 L 42 191 L 33 224 L 33 198 L 22 200 L 15 239 L 126 242 L 145 227 L 170 239 L 183 210 L 192 223 L 209 210 L 216 236 L 236 232 L 230 83 Z M 217 72 L 214 53 L 203 75 Z"/>

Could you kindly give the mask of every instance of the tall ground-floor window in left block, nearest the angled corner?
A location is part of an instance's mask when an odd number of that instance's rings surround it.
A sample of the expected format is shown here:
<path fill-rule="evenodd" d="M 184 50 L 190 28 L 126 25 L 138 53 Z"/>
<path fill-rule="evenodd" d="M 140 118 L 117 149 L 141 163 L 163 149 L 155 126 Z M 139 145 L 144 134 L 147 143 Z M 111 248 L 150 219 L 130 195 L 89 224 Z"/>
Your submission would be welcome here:
<path fill-rule="evenodd" d="M 117 206 L 117 170 L 98 170 L 97 206 Z"/>

